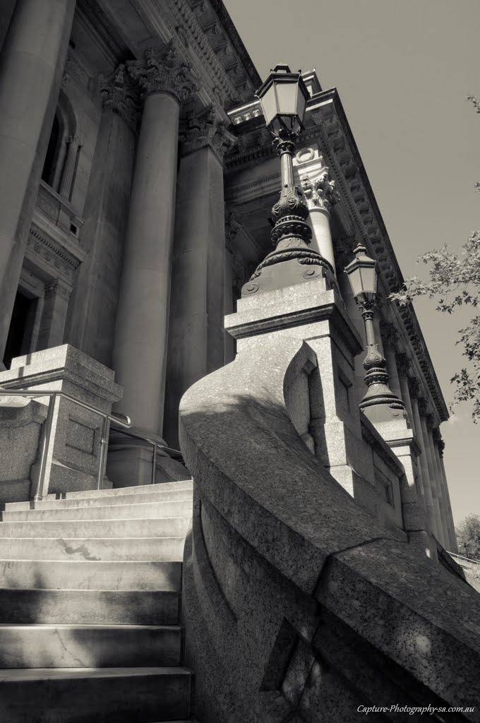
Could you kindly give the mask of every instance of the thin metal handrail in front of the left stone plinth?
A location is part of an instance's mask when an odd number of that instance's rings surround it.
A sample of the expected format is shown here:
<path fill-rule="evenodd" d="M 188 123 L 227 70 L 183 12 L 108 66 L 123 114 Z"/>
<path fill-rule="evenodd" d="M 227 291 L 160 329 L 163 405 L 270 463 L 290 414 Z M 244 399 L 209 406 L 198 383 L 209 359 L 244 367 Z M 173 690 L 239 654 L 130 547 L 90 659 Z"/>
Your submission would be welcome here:
<path fill-rule="evenodd" d="M 95 406 L 92 406 L 91 404 L 88 404 L 87 402 L 80 401 L 80 399 L 76 399 L 72 397 L 72 395 L 67 394 L 67 392 L 62 392 L 61 390 L 56 389 L 39 389 L 38 391 L 33 391 L 30 389 L 0 389 L 0 397 L 27 397 L 30 399 L 35 399 L 39 397 L 49 397 L 48 400 L 48 412 L 47 412 L 47 418 L 45 422 L 45 427 L 43 427 L 43 435 L 42 435 L 42 451 L 40 455 L 40 469 L 38 471 L 38 479 L 35 484 L 35 492 L 33 495 L 33 501 L 38 502 L 39 500 L 43 500 L 44 497 L 48 494 L 48 482 L 46 484 L 45 481 L 45 474 L 46 474 L 46 467 L 47 467 L 47 457 L 48 457 L 48 449 L 50 448 L 50 439 L 51 439 L 51 430 L 53 426 L 53 405 L 54 400 L 56 397 L 61 397 L 63 399 L 67 399 L 70 402 L 73 402 L 74 404 L 77 404 L 78 406 L 83 407 L 84 409 L 87 409 L 88 411 L 93 412 L 94 414 L 98 414 L 103 418 L 102 423 L 102 438 L 100 440 L 100 461 L 99 461 L 99 469 L 98 469 L 98 477 L 97 477 L 97 484 L 98 489 L 101 489 L 101 484 L 103 480 L 103 467 L 105 466 L 105 460 L 106 460 L 106 448 L 108 444 L 108 422 L 113 422 L 113 424 L 119 425 L 119 427 L 124 427 L 124 429 L 129 429 L 132 427 L 132 420 L 127 416 L 127 414 L 108 414 L 106 411 L 101 411 L 101 409 L 98 409 Z M 123 430 L 122 430 L 123 431 Z M 147 440 L 149 441 L 149 440 Z M 46 489 L 45 489 L 46 487 Z"/>

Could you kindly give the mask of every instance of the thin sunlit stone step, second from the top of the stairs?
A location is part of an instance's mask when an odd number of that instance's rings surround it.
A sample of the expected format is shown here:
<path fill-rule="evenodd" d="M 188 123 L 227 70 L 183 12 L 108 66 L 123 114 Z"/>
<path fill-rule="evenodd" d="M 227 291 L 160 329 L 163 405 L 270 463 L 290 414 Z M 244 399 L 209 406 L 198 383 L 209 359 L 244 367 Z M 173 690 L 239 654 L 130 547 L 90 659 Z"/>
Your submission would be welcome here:
<path fill-rule="evenodd" d="M 139 502 L 134 505 L 102 505 L 100 507 L 5 510 L 2 521 L 20 520 L 115 520 L 161 519 L 192 515 L 192 497 L 171 502 Z"/>

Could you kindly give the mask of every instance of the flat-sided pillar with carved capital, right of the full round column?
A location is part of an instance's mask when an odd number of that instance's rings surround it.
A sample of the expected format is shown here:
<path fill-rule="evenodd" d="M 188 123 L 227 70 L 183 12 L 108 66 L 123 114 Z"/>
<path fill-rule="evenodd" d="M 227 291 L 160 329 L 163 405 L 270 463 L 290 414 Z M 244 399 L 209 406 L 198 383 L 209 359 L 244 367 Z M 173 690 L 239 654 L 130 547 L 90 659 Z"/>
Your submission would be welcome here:
<path fill-rule="evenodd" d="M 236 142 L 213 109 L 181 129 L 164 436 L 178 444 L 181 396 L 225 359 L 223 156 Z"/>

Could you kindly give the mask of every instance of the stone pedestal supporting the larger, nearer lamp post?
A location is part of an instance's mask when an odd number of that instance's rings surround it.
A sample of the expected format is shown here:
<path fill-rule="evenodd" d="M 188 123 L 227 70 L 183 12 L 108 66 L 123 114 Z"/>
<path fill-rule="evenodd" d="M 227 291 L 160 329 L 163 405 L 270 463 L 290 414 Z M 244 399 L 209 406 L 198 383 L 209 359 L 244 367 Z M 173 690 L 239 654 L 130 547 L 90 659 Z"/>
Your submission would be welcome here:
<path fill-rule="evenodd" d="M 238 356 L 254 358 L 258 348 L 272 343 L 273 335 L 285 354 L 292 354 L 283 397 L 305 453 L 313 451 L 382 529 L 407 539 L 403 467 L 359 411 L 353 359 L 361 351 L 360 338 L 327 280 L 312 278 L 241 299 L 236 314 L 226 317 L 226 329 L 237 340 Z M 275 357 L 271 363 L 274 369 Z M 265 408 L 270 408 L 267 403 Z"/>

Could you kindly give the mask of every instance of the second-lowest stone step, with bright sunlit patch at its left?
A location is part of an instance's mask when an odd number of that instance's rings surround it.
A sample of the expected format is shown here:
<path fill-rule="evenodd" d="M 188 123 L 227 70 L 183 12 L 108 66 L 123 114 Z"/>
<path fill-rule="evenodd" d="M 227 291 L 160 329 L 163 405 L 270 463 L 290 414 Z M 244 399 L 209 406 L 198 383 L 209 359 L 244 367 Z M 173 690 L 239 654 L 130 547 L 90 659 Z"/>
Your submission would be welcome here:
<path fill-rule="evenodd" d="M 179 625 L 0 625 L 0 668 L 180 664 Z"/>

